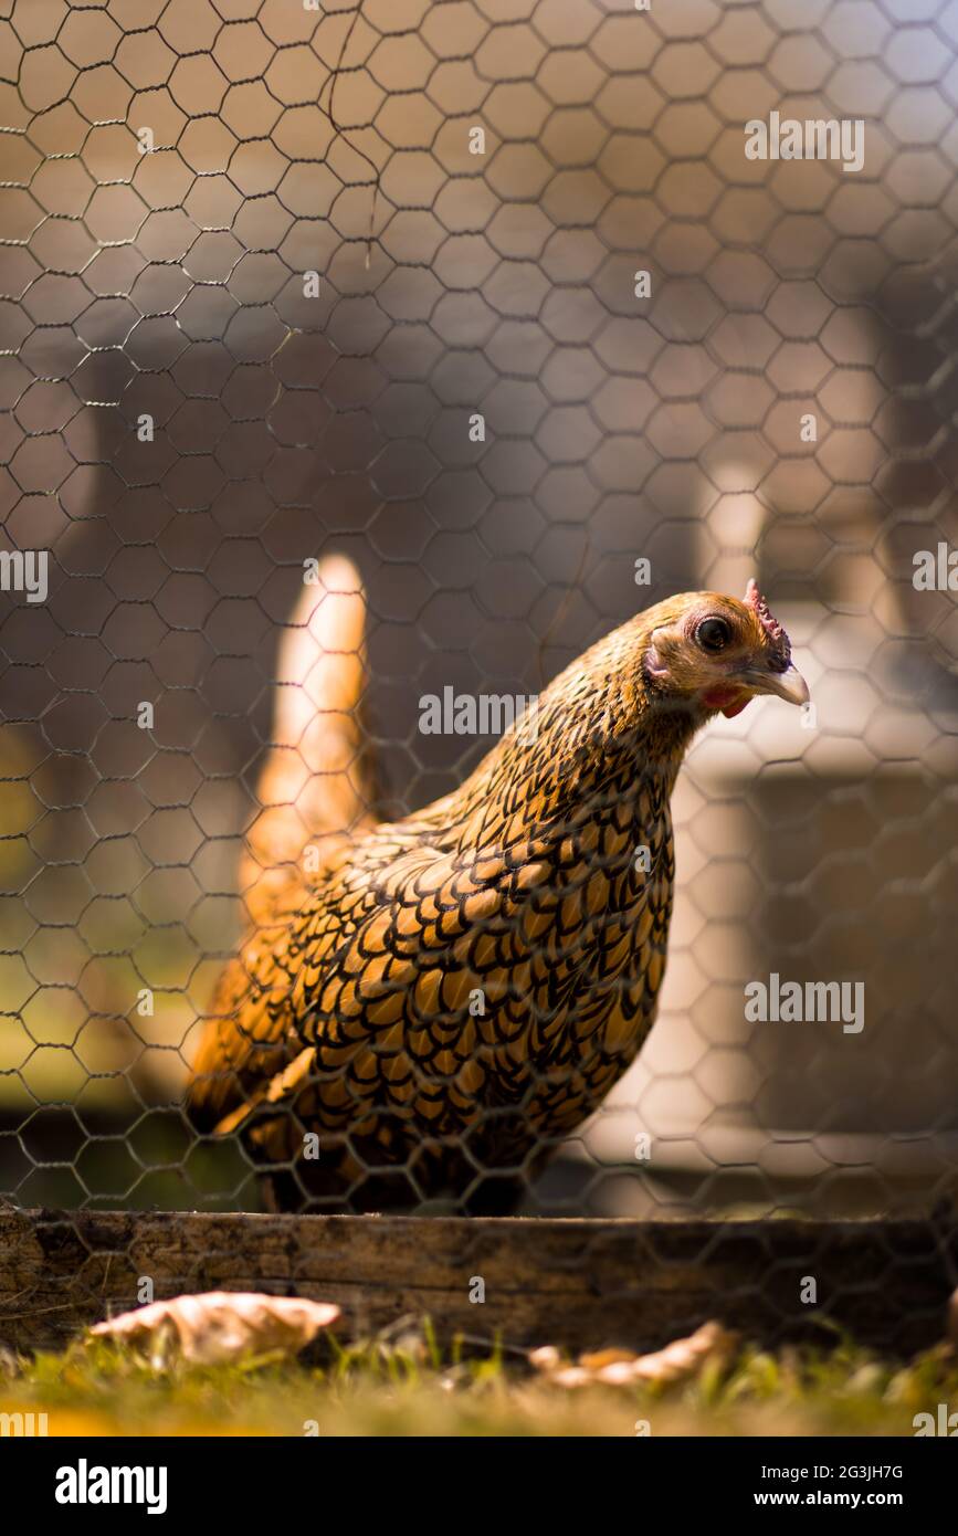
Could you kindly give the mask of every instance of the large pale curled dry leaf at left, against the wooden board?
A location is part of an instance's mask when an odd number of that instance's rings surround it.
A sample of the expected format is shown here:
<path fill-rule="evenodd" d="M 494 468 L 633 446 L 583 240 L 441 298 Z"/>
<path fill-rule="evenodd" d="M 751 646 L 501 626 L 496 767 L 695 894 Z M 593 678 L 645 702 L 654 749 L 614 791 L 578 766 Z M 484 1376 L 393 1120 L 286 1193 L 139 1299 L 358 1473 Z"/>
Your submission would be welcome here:
<path fill-rule="evenodd" d="M 273 1350 L 298 1353 L 338 1316 L 339 1307 L 304 1296 L 207 1290 L 200 1296 L 175 1296 L 137 1307 L 97 1322 L 91 1333 L 143 1342 L 155 1364 L 180 1355 L 200 1366 L 213 1366 Z"/>

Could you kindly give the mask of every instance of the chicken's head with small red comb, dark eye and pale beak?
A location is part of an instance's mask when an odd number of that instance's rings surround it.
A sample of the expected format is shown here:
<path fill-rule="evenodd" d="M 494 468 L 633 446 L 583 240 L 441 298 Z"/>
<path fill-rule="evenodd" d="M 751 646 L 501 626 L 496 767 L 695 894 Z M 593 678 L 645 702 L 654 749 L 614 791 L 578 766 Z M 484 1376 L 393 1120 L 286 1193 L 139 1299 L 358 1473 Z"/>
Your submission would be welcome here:
<path fill-rule="evenodd" d="M 808 703 L 789 637 L 754 581 L 742 602 L 694 591 L 662 604 L 662 610 L 665 622 L 652 628 L 645 650 L 649 696 L 729 717 L 758 693 Z"/>

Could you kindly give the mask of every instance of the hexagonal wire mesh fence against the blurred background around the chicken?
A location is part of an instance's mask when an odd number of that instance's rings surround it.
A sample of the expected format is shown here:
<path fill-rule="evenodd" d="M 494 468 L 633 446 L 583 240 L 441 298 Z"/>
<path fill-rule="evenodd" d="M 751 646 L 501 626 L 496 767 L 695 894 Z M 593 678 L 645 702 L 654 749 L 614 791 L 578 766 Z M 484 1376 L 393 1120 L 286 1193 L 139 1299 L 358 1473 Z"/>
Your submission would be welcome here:
<path fill-rule="evenodd" d="M 3 11 L 0 1192 L 258 1209 L 183 1094 L 344 553 L 379 816 L 493 743 L 425 696 L 674 591 L 755 574 L 812 688 L 692 750 L 659 1021 L 520 1209 L 950 1197 L 956 0 Z"/>

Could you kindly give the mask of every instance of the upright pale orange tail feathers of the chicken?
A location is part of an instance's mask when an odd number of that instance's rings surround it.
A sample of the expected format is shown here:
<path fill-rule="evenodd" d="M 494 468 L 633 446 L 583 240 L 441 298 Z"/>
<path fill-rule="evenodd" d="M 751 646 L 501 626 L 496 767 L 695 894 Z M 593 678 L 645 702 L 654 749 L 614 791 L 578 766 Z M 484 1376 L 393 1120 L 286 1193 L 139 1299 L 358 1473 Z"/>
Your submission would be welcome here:
<path fill-rule="evenodd" d="M 240 883 L 253 922 L 322 863 L 333 834 L 370 825 L 375 774 L 361 723 L 365 593 L 342 554 L 304 585 L 276 657 L 273 725 Z"/>

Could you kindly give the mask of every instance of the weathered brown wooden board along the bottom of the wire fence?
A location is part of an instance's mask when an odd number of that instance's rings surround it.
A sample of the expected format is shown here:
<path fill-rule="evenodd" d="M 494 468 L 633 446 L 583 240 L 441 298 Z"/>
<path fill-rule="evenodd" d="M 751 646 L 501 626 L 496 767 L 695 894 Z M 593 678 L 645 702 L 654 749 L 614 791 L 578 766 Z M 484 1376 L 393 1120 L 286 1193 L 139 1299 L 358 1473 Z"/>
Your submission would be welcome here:
<path fill-rule="evenodd" d="M 717 1318 L 766 1344 L 912 1352 L 943 1335 L 958 1232 L 930 1221 L 602 1221 L 0 1210 L 0 1342 L 58 1349 L 100 1318 L 198 1290 L 335 1301 L 368 1336 L 431 1316 L 510 1346 L 659 1347 Z M 801 1301 L 804 1278 L 817 1304 Z M 470 1301 L 484 1281 L 485 1301 Z"/>

